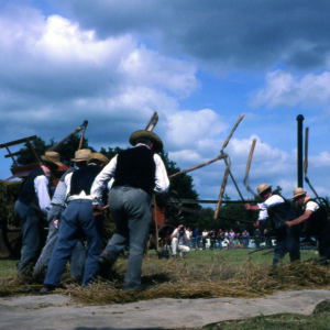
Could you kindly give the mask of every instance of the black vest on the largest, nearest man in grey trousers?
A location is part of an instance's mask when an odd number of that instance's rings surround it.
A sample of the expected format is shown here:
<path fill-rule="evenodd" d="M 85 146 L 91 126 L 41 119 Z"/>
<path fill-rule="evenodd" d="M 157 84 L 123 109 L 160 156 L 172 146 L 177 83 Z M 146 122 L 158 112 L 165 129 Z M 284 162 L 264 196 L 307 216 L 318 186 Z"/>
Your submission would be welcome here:
<path fill-rule="evenodd" d="M 152 195 L 155 187 L 154 152 L 146 146 L 136 146 L 120 152 L 117 156 L 113 186 L 141 188 Z"/>

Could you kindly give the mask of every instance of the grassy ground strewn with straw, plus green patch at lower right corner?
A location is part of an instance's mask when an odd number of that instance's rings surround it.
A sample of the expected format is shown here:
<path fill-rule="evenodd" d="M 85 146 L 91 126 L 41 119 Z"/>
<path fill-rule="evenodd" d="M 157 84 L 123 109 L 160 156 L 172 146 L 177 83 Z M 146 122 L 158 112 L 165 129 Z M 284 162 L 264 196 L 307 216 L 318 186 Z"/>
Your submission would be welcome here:
<path fill-rule="evenodd" d="M 120 258 L 111 280 L 99 279 L 88 288 L 72 283 L 69 272 L 62 279 L 56 294 L 69 295 L 87 305 L 121 304 L 155 298 L 254 298 L 279 290 L 330 288 L 330 268 L 315 263 L 284 264 L 271 267 L 273 254 L 249 254 L 251 250 L 191 251 L 186 257 L 158 258 L 154 251 L 143 260 L 141 292 L 121 290 L 128 260 Z M 301 251 L 301 261 L 315 256 L 314 251 Z M 285 262 L 288 261 L 286 257 Z M 0 260 L 0 296 L 37 295 L 43 278 L 19 279 L 13 274 L 16 261 Z M 206 329 L 329 329 L 330 302 L 311 316 L 258 316 Z"/>

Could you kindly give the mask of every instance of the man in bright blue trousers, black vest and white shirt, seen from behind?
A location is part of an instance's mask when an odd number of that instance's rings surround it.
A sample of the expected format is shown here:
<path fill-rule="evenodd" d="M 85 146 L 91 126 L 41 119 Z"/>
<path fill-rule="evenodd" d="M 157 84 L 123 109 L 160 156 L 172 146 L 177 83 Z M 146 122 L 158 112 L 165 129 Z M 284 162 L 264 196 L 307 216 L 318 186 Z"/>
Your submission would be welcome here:
<path fill-rule="evenodd" d="M 108 163 L 109 160 L 105 155 L 91 153 L 88 156 L 87 166 L 65 177 L 68 206 L 62 216 L 58 239 L 41 294 L 47 294 L 58 287 L 66 262 L 79 241 L 81 232 L 87 240 L 82 286 L 88 285 L 97 277 L 98 257 L 102 252 L 103 221 L 100 217 L 92 215 L 90 188 L 96 176 Z"/>

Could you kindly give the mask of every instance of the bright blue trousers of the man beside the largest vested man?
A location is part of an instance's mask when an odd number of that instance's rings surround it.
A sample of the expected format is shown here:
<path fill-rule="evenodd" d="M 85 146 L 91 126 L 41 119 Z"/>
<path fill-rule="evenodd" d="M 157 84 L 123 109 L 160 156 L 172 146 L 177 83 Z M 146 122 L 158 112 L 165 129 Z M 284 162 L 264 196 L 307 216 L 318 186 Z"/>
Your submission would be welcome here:
<path fill-rule="evenodd" d="M 82 285 L 97 277 L 98 257 L 102 252 L 103 222 L 92 216 L 91 200 L 73 200 L 61 219 L 58 239 L 50 261 L 44 284 L 58 286 L 65 265 L 81 234 L 87 240 L 87 258 Z"/>

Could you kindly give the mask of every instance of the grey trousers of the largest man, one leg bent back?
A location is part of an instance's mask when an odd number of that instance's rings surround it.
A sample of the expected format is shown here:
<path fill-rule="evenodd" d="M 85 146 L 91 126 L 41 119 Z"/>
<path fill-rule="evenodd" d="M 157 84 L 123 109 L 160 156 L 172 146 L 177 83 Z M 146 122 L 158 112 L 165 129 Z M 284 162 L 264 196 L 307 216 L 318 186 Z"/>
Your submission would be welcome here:
<path fill-rule="evenodd" d="M 140 188 L 118 186 L 110 190 L 109 206 L 117 232 L 105 251 L 114 262 L 119 253 L 130 245 L 123 289 L 134 288 L 141 284 L 143 253 L 152 222 L 152 198 Z"/>

